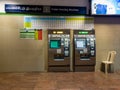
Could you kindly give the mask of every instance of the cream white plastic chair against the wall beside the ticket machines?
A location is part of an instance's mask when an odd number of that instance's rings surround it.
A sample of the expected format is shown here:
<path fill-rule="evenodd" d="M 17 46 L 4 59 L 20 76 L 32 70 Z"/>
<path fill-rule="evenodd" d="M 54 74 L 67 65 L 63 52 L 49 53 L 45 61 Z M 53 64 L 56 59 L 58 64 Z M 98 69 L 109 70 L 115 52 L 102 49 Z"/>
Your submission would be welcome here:
<path fill-rule="evenodd" d="M 116 51 L 109 51 L 108 56 L 107 56 L 107 60 L 102 61 L 102 63 L 105 64 L 105 74 L 108 74 L 108 65 L 114 64 L 115 55 L 116 55 Z"/>

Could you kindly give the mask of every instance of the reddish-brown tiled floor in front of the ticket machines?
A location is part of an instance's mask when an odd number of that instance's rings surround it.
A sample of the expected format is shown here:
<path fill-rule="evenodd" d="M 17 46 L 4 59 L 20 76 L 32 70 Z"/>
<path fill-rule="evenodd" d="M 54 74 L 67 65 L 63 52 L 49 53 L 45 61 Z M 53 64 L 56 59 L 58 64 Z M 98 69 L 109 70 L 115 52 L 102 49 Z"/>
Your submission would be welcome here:
<path fill-rule="evenodd" d="M 120 90 L 120 74 L 102 72 L 0 73 L 0 90 Z"/>

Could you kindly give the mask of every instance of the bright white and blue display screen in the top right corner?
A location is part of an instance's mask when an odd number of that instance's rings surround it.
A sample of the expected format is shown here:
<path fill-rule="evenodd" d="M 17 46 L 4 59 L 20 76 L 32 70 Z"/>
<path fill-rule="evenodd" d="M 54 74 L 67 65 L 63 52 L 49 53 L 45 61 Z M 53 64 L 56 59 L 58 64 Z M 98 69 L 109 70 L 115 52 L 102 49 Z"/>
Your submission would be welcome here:
<path fill-rule="evenodd" d="M 120 15 L 120 0 L 92 0 L 91 13 L 95 15 Z"/>

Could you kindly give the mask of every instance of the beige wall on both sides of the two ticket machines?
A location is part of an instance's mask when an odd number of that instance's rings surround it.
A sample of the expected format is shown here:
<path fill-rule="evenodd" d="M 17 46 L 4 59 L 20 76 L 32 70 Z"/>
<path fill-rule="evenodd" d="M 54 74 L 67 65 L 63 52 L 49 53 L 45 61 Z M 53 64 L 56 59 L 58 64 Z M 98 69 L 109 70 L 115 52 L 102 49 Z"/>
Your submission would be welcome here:
<path fill-rule="evenodd" d="M 116 50 L 115 70 L 120 70 L 119 17 L 95 17 L 96 71 L 109 50 Z M 47 31 L 42 40 L 20 39 L 23 16 L 0 16 L 0 72 L 46 71 Z"/>

